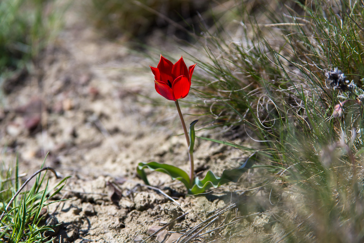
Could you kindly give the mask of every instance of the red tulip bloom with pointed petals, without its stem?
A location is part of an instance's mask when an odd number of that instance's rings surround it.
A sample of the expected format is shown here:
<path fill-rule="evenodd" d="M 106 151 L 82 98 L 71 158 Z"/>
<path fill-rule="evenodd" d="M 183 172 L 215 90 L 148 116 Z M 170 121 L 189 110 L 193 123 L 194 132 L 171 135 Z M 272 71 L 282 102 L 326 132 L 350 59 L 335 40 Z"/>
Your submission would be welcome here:
<path fill-rule="evenodd" d="M 187 69 L 182 56 L 173 64 L 161 55 L 158 66 L 150 67 L 154 74 L 155 90 L 171 101 L 185 98 L 190 91 L 191 77 L 196 64 Z"/>

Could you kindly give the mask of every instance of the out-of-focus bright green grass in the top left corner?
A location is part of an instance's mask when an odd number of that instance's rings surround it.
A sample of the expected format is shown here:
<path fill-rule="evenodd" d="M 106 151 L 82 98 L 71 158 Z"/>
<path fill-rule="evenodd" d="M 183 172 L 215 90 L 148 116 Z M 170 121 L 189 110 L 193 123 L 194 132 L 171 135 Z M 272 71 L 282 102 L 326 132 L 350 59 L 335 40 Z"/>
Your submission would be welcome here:
<path fill-rule="evenodd" d="M 52 1 L 0 2 L 0 72 L 23 68 L 54 39 L 60 27 Z"/>

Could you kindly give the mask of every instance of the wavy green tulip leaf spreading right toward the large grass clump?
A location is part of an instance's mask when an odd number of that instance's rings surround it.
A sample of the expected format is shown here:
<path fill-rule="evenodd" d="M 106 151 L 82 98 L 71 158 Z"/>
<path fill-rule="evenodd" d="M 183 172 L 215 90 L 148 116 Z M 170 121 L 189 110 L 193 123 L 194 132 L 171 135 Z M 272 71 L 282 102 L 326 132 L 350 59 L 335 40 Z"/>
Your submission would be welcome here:
<path fill-rule="evenodd" d="M 242 173 L 248 171 L 248 169 L 252 167 L 253 165 L 252 157 L 255 157 L 255 155 L 256 153 L 253 153 L 251 156 L 249 156 L 249 158 L 245 161 L 245 163 L 242 164 L 237 169 L 224 170 L 222 172 L 221 177 L 215 176 L 212 171 L 207 171 L 206 176 L 202 180 L 196 177 L 193 187 L 189 189 L 189 193 L 190 194 L 203 193 L 206 191 L 206 189 L 210 187 L 217 188 L 220 185 L 230 181 L 237 182 Z"/>

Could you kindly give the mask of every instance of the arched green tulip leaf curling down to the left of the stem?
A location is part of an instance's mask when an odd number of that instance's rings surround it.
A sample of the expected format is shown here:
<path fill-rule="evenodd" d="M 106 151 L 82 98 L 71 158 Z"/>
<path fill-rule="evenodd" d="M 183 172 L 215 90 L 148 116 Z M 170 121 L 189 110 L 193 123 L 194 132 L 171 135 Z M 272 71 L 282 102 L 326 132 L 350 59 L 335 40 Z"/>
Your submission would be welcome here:
<path fill-rule="evenodd" d="M 147 179 L 147 175 L 144 172 L 145 168 L 148 168 L 151 171 L 163 172 L 163 173 L 169 175 L 170 177 L 172 177 L 173 180 L 177 179 L 177 180 L 181 181 L 186 186 L 187 189 L 190 188 L 190 178 L 185 171 L 183 171 L 182 169 L 179 169 L 178 167 L 176 167 L 174 165 L 161 164 L 161 163 L 154 162 L 154 161 L 149 162 L 149 163 L 140 162 L 138 164 L 137 173 L 143 179 L 143 181 L 146 185 L 150 185 L 150 184 Z"/>

